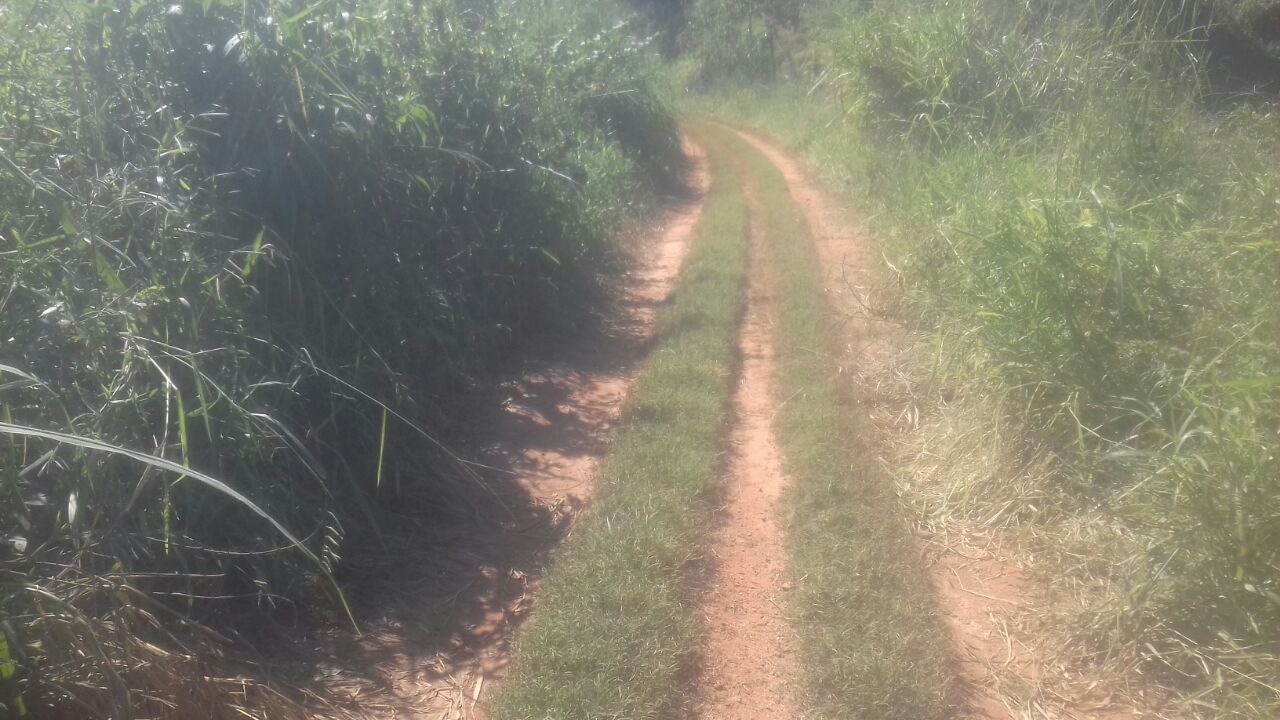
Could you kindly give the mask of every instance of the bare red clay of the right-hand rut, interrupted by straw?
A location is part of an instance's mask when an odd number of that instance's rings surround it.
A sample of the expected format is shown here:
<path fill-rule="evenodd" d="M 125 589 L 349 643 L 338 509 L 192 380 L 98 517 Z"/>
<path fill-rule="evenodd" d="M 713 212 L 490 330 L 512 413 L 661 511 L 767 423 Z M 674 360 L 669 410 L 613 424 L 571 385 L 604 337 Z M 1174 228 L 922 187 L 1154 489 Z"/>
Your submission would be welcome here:
<path fill-rule="evenodd" d="M 804 214 L 823 268 L 823 288 L 841 318 L 846 352 L 842 374 L 874 402 L 874 387 L 902 351 L 908 333 L 881 316 L 876 287 L 879 261 L 868 233 L 850 223 L 850 211 L 833 202 L 800 163 L 758 136 L 740 132 L 786 178 L 791 196 Z M 1152 716 L 1135 707 L 1112 703 L 1111 696 L 1092 688 L 1075 700 L 1053 693 L 1042 669 L 1038 642 L 1019 626 L 1020 612 L 1037 602 L 1038 587 L 1015 561 L 1001 555 L 987 537 L 960 538 L 964 547 L 922 537 L 918 551 L 927 560 L 938 606 L 951 630 L 957 675 L 969 688 L 968 707 L 959 711 L 973 720 L 1071 719 L 1112 720 Z"/>

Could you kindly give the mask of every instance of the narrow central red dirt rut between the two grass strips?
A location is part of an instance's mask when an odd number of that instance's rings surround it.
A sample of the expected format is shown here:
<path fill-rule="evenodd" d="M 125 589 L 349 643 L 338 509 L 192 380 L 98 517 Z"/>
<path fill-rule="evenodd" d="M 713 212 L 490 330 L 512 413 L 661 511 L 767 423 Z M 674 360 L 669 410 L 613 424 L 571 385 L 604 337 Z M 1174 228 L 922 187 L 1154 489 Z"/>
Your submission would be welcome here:
<path fill-rule="evenodd" d="M 758 213 L 751 205 L 751 213 Z M 760 242 L 753 234 L 735 424 L 722 479 L 719 525 L 712 536 L 712 578 L 701 597 L 700 720 L 800 716 L 790 694 L 796 662 L 783 612 L 788 588 L 778 523 L 786 477 L 772 427 L 777 410 L 773 297 L 767 269 L 758 260 Z"/>

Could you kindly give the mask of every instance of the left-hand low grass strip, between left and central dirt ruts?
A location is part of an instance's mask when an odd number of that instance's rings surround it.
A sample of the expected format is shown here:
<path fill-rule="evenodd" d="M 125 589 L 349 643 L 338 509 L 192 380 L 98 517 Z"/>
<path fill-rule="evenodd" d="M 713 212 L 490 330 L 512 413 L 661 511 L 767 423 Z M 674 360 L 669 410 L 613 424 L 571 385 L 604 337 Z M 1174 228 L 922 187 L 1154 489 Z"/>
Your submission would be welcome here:
<path fill-rule="evenodd" d="M 736 365 L 746 255 L 737 179 L 712 188 L 673 305 L 636 379 L 599 489 L 553 564 L 512 676 L 506 720 L 669 715 L 698 638 L 686 569 L 704 544 Z"/>

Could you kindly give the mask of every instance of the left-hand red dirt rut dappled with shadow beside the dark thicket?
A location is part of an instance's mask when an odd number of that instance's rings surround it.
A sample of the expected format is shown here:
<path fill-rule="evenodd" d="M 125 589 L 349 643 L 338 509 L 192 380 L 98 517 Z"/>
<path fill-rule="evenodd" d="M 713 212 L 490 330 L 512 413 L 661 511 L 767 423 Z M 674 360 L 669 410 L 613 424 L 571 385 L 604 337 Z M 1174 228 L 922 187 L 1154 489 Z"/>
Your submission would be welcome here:
<path fill-rule="evenodd" d="M 438 577 L 388 583 L 396 597 L 379 610 L 385 618 L 344 648 L 355 661 L 333 673 L 329 692 L 342 705 L 358 703 L 372 717 L 485 716 L 484 700 L 506 671 L 512 633 L 535 603 L 536 575 L 591 496 L 595 466 L 701 215 L 710 177 L 700 149 L 686 143 L 686 152 L 694 192 L 635 238 L 635 270 L 621 283 L 605 332 L 507 383 L 502 410 L 471 433 L 480 443 L 468 455 L 488 466 L 481 474 L 497 473 L 504 498 L 526 510 L 500 528 L 431 536 Z M 384 574 L 394 574 L 394 564 L 411 565 L 415 552 L 428 551 L 401 550 Z M 440 552 L 451 556 L 442 560 Z M 365 669 L 357 675 L 353 665 Z"/>

